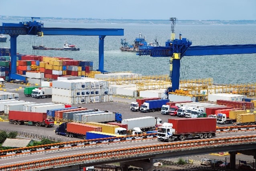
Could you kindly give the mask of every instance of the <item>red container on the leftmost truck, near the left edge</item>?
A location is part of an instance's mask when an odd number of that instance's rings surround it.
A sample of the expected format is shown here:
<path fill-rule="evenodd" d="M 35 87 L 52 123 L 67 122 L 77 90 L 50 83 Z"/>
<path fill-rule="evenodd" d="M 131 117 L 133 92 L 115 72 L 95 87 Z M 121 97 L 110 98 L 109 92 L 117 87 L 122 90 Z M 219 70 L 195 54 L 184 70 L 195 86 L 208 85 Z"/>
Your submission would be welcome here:
<path fill-rule="evenodd" d="M 9 121 L 32 121 L 43 122 L 47 119 L 47 113 L 25 112 L 25 111 L 9 111 Z"/>

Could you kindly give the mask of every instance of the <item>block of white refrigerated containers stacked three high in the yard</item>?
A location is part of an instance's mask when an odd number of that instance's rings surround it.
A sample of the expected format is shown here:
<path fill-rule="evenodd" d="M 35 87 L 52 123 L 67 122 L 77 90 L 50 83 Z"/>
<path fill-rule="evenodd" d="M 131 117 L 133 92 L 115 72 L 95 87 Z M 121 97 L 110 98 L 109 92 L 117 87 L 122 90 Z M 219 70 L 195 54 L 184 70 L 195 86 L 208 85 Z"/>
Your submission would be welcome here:
<path fill-rule="evenodd" d="M 77 80 L 53 80 L 52 101 L 70 105 L 113 101 L 107 81 L 82 78 Z"/>

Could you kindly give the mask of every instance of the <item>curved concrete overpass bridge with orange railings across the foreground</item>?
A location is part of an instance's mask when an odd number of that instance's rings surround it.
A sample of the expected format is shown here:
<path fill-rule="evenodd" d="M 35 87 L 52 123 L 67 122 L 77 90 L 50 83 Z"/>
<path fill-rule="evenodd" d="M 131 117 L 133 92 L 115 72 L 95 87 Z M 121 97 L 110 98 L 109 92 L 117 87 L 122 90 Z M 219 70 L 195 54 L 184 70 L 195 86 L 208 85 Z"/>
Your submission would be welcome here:
<path fill-rule="evenodd" d="M 81 167 L 120 162 L 123 170 L 133 165 L 150 170 L 159 159 L 188 155 L 230 152 L 231 167 L 235 167 L 237 151 L 256 157 L 254 131 L 219 133 L 213 139 L 197 139 L 164 143 L 155 136 L 115 141 L 75 143 L 69 147 L 53 145 L 40 150 L 27 150 L 0 159 L 0 171 L 61 170 L 77 171 Z M 138 162 L 139 161 L 139 162 Z"/>

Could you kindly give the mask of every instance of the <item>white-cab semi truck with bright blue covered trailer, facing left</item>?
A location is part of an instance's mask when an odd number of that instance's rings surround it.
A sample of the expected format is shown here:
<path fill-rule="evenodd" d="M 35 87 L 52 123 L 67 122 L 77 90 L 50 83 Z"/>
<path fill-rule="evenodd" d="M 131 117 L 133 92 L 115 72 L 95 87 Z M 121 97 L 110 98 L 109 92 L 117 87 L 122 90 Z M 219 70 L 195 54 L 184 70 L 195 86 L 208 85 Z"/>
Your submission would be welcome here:
<path fill-rule="evenodd" d="M 148 113 L 148 112 L 154 112 L 154 111 L 161 111 L 162 106 L 165 105 L 167 102 L 169 102 L 168 99 L 145 101 L 140 106 L 140 112 Z"/>

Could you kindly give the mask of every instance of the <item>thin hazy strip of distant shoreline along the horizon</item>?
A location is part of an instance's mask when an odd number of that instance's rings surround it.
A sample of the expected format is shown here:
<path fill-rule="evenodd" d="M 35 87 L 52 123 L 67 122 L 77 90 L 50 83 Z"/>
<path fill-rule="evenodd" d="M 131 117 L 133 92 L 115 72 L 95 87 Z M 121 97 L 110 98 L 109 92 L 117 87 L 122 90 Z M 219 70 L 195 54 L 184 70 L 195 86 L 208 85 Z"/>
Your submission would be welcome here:
<path fill-rule="evenodd" d="M 31 17 L 0 16 L 0 20 L 31 21 Z M 170 24 L 167 20 L 133 20 L 133 19 L 97 19 L 97 18 L 36 18 L 42 22 L 108 23 L 108 24 Z M 176 20 L 179 24 L 256 24 L 256 20 Z"/>

